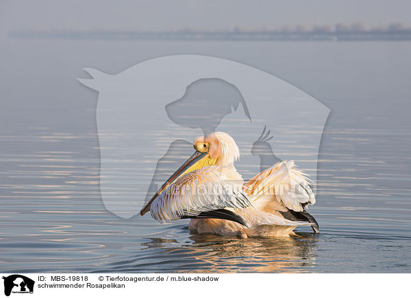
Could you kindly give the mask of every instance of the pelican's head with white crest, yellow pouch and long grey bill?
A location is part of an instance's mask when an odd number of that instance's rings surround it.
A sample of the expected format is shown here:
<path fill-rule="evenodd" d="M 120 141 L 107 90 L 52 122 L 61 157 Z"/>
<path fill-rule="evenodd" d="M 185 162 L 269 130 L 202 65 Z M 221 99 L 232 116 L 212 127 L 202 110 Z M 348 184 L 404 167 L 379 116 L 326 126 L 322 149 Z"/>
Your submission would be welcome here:
<path fill-rule="evenodd" d="M 141 215 L 147 213 L 153 200 L 180 176 L 210 165 L 225 167 L 231 165 L 240 157 L 240 149 L 238 149 L 234 139 L 227 133 L 216 132 L 210 133 L 206 137 L 196 137 L 193 146 L 195 148 L 194 154 L 164 182 L 164 185 L 160 187 L 153 198 L 141 209 Z"/>

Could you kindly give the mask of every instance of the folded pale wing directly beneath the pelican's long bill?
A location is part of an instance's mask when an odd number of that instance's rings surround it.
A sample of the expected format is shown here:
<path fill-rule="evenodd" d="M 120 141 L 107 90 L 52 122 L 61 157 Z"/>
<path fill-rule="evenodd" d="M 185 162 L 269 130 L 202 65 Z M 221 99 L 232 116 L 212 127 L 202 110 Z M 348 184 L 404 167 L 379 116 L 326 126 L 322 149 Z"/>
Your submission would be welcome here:
<path fill-rule="evenodd" d="M 224 182 L 216 167 L 202 167 L 184 174 L 151 204 L 151 216 L 160 221 L 195 217 L 222 208 L 251 206 L 241 187 Z"/>

